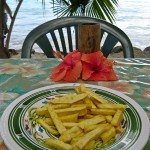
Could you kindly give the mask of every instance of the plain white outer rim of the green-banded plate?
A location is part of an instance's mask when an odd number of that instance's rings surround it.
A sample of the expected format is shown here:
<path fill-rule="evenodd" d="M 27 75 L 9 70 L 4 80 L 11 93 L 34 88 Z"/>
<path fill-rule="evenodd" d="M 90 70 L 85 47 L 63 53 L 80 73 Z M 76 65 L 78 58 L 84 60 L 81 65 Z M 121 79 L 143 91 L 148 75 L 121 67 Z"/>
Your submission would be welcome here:
<path fill-rule="evenodd" d="M 47 89 L 51 89 L 51 88 L 58 88 L 58 87 L 69 87 L 69 86 L 78 86 L 81 83 L 62 83 L 62 84 L 53 84 L 53 85 L 48 85 L 48 86 L 44 86 L 44 87 L 40 87 L 37 89 L 33 89 L 23 95 L 21 95 L 20 97 L 18 97 L 17 99 L 15 99 L 10 105 L 8 105 L 8 107 L 4 110 L 2 116 L 1 116 L 1 120 L 0 120 L 0 132 L 1 132 L 1 137 L 4 140 L 4 143 L 6 144 L 6 146 L 10 149 L 10 150 L 21 150 L 22 148 L 13 140 L 13 138 L 10 136 L 9 131 L 7 131 L 7 127 L 6 124 L 8 124 L 8 117 L 9 114 L 11 112 L 11 110 L 13 109 L 13 107 L 15 107 L 15 105 L 17 105 L 22 99 L 26 98 L 26 96 L 32 95 L 34 93 L 37 93 L 41 90 L 47 90 Z M 101 89 L 110 93 L 113 93 L 117 96 L 120 96 L 122 98 L 124 98 L 126 101 L 128 101 L 136 110 L 138 115 L 140 116 L 140 120 L 142 123 L 141 126 L 141 133 L 139 135 L 139 138 L 137 139 L 136 142 L 133 143 L 133 145 L 129 148 L 129 150 L 135 150 L 135 149 L 143 149 L 144 146 L 146 145 L 146 143 L 148 142 L 149 139 L 149 135 L 150 135 L 150 121 L 148 119 L 148 116 L 146 114 L 146 112 L 143 110 L 143 108 L 133 99 L 131 99 L 129 96 L 125 95 L 124 93 L 120 92 L 120 91 L 116 91 L 107 87 L 103 87 L 100 85 L 94 85 L 94 84 L 84 84 L 86 87 L 91 87 L 91 88 L 97 88 L 97 89 Z M 5 123 L 4 123 L 5 122 Z M 7 125 L 8 126 L 8 125 Z M 9 134 L 9 136 L 7 136 L 7 134 Z M 143 139 L 143 137 L 145 137 Z M 11 142 L 10 142 L 11 141 Z M 139 142 L 140 141 L 140 142 Z M 13 147 L 12 147 L 13 144 Z"/>

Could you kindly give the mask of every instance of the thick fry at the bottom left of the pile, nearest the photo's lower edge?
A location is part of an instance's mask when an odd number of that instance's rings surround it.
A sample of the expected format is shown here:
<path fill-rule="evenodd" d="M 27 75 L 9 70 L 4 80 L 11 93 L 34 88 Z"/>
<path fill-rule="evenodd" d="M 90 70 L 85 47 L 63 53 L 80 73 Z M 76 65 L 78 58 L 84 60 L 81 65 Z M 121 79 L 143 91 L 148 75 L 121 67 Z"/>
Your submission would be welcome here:
<path fill-rule="evenodd" d="M 45 140 L 45 144 L 58 150 L 72 150 L 72 145 L 64 143 L 58 139 L 48 138 Z"/>

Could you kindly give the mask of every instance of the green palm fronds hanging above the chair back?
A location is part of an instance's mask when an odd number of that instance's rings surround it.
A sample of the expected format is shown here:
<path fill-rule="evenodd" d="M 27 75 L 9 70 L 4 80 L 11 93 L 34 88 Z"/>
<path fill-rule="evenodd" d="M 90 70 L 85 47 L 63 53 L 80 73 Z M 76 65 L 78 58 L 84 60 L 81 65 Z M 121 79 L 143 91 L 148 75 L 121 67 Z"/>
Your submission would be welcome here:
<path fill-rule="evenodd" d="M 52 0 L 55 15 L 85 15 L 115 22 L 118 0 Z"/>

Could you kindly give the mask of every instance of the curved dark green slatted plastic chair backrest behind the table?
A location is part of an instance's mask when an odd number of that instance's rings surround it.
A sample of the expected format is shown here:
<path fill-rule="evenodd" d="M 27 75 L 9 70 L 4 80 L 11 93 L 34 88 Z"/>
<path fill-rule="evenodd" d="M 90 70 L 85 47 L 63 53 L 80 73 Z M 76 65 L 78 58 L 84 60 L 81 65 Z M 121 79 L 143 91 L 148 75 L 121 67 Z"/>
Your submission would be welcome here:
<path fill-rule="evenodd" d="M 101 51 L 105 57 L 108 57 L 118 42 L 122 45 L 124 58 L 134 57 L 131 41 L 121 29 L 104 20 L 84 16 L 62 17 L 39 25 L 25 38 L 21 57 L 31 58 L 35 43 L 48 58 L 54 57 L 53 50 L 67 55 L 78 49 L 78 25 L 84 23 L 100 23 Z"/>

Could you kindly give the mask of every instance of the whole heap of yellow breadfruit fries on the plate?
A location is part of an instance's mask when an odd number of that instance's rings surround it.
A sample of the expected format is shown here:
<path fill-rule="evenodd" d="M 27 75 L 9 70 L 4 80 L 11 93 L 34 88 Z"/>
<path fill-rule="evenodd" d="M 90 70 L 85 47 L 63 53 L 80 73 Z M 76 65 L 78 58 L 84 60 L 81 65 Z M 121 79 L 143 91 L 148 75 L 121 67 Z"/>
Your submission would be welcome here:
<path fill-rule="evenodd" d="M 94 149 L 99 139 L 106 144 L 121 132 L 126 106 L 112 104 L 83 84 L 75 87 L 76 94 L 50 100 L 36 109 L 37 123 L 56 138 L 45 139 L 45 145 L 58 150 Z M 41 119 L 42 118 L 42 119 Z"/>

